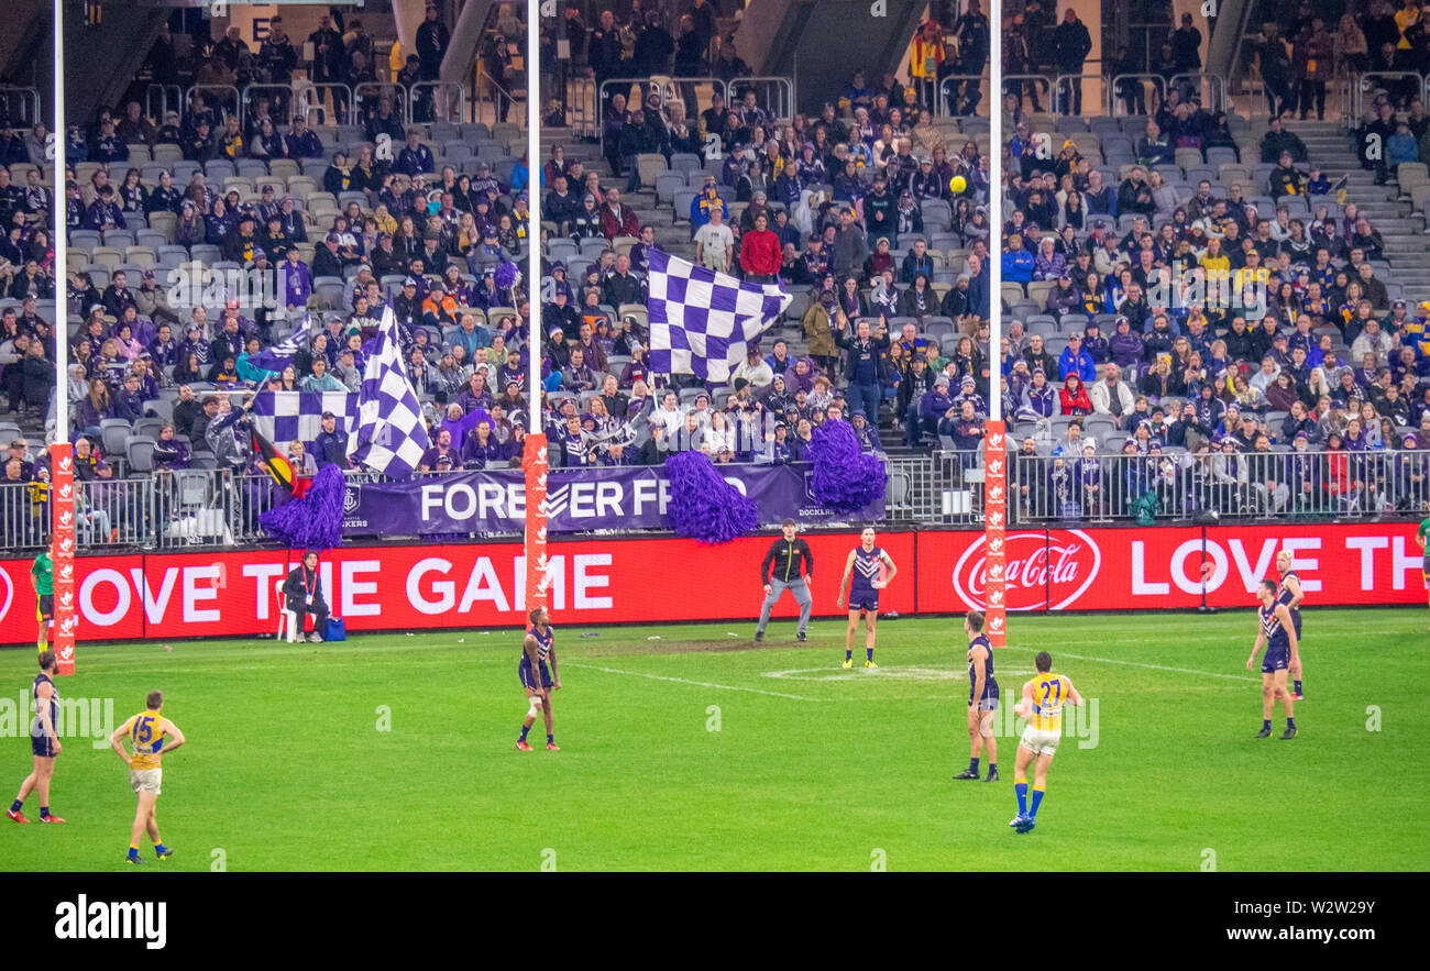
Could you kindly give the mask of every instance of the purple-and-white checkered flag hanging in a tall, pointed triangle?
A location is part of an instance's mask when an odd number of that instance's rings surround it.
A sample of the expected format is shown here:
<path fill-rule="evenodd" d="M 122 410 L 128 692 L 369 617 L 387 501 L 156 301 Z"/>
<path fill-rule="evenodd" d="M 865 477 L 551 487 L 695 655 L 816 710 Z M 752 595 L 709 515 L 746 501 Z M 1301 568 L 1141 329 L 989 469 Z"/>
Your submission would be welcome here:
<path fill-rule="evenodd" d="M 373 472 L 408 479 L 430 445 L 418 392 L 402 368 L 398 319 L 388 307 L 378 330 L 378 346 L 363 370 L 358 433 L 349 439 L 347 455 Z"/>

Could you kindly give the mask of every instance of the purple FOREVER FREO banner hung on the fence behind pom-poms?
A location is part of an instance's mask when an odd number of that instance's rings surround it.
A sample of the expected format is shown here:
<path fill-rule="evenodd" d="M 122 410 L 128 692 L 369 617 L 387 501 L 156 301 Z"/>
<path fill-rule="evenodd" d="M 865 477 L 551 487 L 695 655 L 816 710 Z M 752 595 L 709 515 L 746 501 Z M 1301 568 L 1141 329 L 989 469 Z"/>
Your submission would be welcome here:
<path fill-rule="evenodd" d="M 755 501 L 761 525 L 785 516 L 801 523 L 837 519 L 809 495 L 814 466 L 728 465 L 725 479 Z M 662 466 L 556 469 L 546 491 L 548 529 L 669 529 L 671 482 Z M 854 521 L 884 518 L 882 496 Z M 343 496 L 343 535 L 519 533 L 526 522 L 526 483 L 519 469 L 449 472 L 410 482 L 352 482 Z"/>

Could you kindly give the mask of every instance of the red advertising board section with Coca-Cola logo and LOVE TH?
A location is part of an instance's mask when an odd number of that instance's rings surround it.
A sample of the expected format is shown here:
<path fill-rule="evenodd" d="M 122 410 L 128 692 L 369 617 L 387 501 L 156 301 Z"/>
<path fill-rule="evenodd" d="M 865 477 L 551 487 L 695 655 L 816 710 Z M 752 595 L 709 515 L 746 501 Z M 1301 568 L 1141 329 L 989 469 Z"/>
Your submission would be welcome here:
<path fill-rule="evenodd" d="M 1151 611 L 1251 606 L 1276 573 L 1276 551 L 1296 552 L 1306 605 L 1423 603 L 1413 523 L 1017 529 L 1004 535 L 1010 611 Z M 918 538 L 918 609 L 984 609 L 984 533 Z"/>

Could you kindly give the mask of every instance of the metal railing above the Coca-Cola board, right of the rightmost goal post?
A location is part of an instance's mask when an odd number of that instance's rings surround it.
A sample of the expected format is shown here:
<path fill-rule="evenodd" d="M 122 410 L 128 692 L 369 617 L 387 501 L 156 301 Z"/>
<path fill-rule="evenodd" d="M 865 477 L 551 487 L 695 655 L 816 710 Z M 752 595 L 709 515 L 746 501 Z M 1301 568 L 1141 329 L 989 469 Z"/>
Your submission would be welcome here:
<path fill-rule="evenodd" d="M 1423 511 L 1430 453 L 1244 452 L 1047 456 L 1008 463 L 1014 522 L 1358 518 Z"/>

